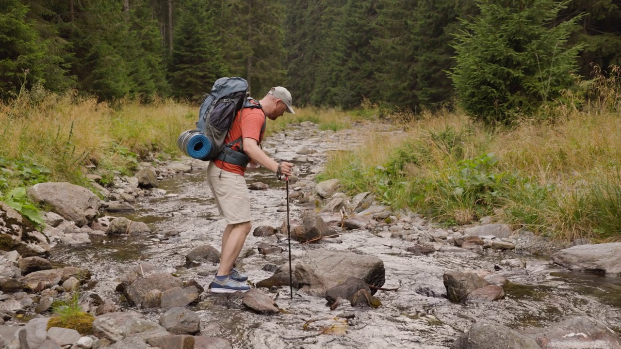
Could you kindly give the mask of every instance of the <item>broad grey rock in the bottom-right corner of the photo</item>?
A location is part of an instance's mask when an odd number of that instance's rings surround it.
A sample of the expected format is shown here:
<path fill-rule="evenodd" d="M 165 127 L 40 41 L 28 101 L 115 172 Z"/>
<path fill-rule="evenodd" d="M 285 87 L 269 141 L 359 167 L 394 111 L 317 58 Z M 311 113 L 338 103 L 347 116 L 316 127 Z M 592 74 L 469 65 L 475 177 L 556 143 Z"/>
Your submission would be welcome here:
<path fill-rule="evenodd" d="M 565 320 L 543 329 L 527 329 L 524 333 L 533 338 L 542 349 L 621 348 L 619 335 L 602 322 L 586 316 Z"/>

